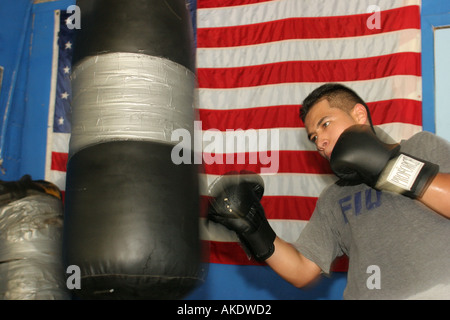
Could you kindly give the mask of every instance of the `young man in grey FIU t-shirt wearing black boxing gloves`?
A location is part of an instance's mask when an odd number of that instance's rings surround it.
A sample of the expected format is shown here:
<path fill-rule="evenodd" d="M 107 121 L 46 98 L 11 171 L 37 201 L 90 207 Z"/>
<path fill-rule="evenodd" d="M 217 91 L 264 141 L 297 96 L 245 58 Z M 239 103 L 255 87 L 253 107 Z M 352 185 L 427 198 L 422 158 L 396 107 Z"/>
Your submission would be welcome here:
<path fill-rule="evenodd" d="M 346 254 L 345 299 L 449 299 L 450 144 L 427 132 L 382 142 L 364 101 L 341 84 L 310 93 L 300 115 L 339 180 L 323 190 L 298 240 L 287 243 L 270 227 L 258 175 L 219 178 L 210 220 L 297 287 L 330 273 Z M 376 288 L 367 281 L 373 266 Z"/>

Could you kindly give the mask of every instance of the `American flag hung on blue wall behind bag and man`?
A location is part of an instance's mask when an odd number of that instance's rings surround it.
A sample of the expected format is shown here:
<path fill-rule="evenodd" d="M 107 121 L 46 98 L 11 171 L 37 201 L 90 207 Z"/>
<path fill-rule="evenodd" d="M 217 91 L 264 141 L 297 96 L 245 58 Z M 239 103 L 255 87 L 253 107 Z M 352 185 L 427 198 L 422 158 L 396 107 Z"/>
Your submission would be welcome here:
<path fill-rule="evenodd" d="M 326 82 L 353 88 L 368 103 L 374 124 L 395 140 L 422 130 L 420 0 L 192 0 L 189 4 L 197 8 L 193 16 L 197 109 L 203 134 L 214 130 L 223 141 L 244 141 L 234 146 L 231 156 L 246 157 L 244 163 L 204 163 L 201 178 L 208 185 L 228 171 L 261 173 L 262 204 L 281 238 L 296 240 L 320 192 L 334 181 L 299 119 L 300 104 L 313 89 Z M 50 106 L 46 179 L 64 191 L 74 30 L 66 26 L 66 13 L 55 17 L 54 106 Z M 277 133 L 278 144 L 266 150 L 239 140 L 250 131 Z M 211 146 L 205 138 L 203 146 Z M 204 157 L 220 157 L 227 151 L 208 149 Z M 261 161 L 263 151 L 269 156 L 273 152 L 273 161 L 277 157 L 276 172 L 262 172 L 268 167 Z M 256 163 L 249 161 L 253 155 Z M 207 198 L 206 188 L 201 195 Z M 204 222 L 201 236 L 210 246 L 209 262 L 258 264 L 248 259 L 233 233 Z M 345 270 L 345 260 L 335 270 Z"/>

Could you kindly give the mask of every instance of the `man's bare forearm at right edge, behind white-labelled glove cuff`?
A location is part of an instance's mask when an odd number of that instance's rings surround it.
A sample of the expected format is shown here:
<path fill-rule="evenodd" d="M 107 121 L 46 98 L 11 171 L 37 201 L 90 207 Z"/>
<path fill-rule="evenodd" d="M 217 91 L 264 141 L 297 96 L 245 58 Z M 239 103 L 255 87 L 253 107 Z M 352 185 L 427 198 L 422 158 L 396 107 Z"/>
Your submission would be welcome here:
<path fill-rule="evenodd" d="M 450 218 L 450 174 L 438 173 L 418 200 L 444 217 Z"/>

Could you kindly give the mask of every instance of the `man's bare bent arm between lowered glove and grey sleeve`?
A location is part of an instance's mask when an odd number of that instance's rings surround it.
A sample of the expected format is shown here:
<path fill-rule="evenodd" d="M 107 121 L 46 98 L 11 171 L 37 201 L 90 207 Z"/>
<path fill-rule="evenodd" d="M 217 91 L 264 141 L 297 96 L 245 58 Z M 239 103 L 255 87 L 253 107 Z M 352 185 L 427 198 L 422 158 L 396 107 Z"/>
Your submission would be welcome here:
<path fill-rule="evenodd" d="M 266 263 L 284 280 L 301 288 L 319 277 L 319 266 L 305 258 L 290 243 L 276 237 L 274 245 L 275 251 Z"/>

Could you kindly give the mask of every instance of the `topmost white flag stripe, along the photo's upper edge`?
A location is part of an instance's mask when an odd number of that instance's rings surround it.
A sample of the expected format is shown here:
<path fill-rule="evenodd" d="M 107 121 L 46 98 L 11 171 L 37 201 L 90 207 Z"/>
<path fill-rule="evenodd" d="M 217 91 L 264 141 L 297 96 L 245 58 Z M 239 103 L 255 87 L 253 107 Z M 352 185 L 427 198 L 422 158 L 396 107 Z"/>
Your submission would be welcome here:
<path fill-rule="evenodd" d="M 245 6 L 223 8 L 199 8 L 198 28 L 217 28 L 247 25 L 296 17 L 326 17 L 365 14 L 376 5 L 381 11 L 409 5 L 420 5 L 420 0 L 321 0 L 320 5 L 311 1 L 277 0 Z"/>

